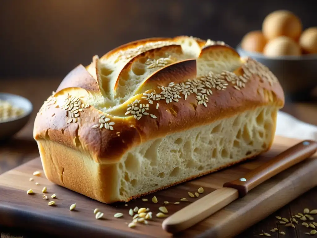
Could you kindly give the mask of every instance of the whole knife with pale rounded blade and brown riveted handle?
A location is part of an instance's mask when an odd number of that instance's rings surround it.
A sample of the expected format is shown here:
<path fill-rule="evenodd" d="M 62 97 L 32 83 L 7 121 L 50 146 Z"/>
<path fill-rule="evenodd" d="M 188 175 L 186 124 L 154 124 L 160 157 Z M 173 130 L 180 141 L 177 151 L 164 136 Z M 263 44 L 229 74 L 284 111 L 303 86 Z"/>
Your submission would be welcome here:
<path fill-rule="evenodd" d="M 316 151 L 317 142 L 302 141 L 243 177 L 224 183 L 222 188 L 216 189 L 177 211 L 163 221 L 162 228 L 173 234 L 190 228 L 236 199 L 244 197 L 252 188 L 262 182 L 310 157 Z"/>

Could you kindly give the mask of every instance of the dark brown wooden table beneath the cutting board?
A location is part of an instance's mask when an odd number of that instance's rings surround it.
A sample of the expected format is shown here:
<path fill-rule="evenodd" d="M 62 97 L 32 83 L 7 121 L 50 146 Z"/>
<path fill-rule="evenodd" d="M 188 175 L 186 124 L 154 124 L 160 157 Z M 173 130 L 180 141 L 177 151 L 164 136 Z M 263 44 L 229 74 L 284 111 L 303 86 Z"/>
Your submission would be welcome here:
<path fill-rule="evenodd" d="M 44 100 L 54 91 L 61 79 L 0 79 L 1 92 L 8 92 L 18 94 L 28 98 L 34 106 L 34 110 L 29 123 L 10 141 L 2 142 L 0 144 L 0 174 L 13 169 L 14 167 L 27 162 L 37 157 L 38 149 L 36 142 L 33 140 L 33 122 L 36 116 L 36 112 L 42 106 Z M 284 111 L 292 114 L 304 122 L 308 122 L 317 125 L 317 103 L 292 103 L 287 104 Z M 272 227 L 275 227 L 276 215 L 282 217 L 290 217 L 298 212 L 303 212 L 304 208 L 315 209 L 317 188 L 314 188 L 301 197 L 295 199 L 285 207 L 276 211 L 274 214 L 268 216 L 266 219 L 252 226 L 242 234 L 238 235 L 238 238 L 245 237 L 263 237 L 259 236 L 262 230 L 269 231 Z M 261 211 L 255 211 L 261 212 Z M 239 221 L 237 221 L 239 222 Z M 49 237 L 49 234 L 38 234 L 36 231 L 26 231 L 16 228 L 0 227 L 1 238 L 3 237 Z M 305 237 L 303 229 L 297 226 L 296 229 L 288 227 L 286 235 L 279 235 L 271 233 L 272 237 Z"/>

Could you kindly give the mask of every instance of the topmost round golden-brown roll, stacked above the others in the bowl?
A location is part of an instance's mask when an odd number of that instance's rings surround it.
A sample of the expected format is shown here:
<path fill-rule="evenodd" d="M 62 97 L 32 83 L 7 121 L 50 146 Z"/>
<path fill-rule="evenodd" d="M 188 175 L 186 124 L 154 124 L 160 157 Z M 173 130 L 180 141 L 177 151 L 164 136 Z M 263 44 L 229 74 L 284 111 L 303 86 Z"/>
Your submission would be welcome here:
<path fill-rule="evenodd" d="M 279 10 L 270 13 L 265 17 L 262 24 L 263 35 L 268 40 L 278 36 L 288 36 L 297 41 L 301 36 L 301 31 L 301 20 L 287 10 Z"/>

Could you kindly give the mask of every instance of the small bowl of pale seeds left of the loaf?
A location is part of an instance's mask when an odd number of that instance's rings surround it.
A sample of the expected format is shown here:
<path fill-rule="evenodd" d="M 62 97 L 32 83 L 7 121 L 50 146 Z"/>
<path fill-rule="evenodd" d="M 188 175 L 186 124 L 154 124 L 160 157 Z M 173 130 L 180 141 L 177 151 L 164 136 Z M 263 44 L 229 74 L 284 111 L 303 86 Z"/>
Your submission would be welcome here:
<path fill-rule="evenodd" d="M 28 99 L 10 93 L 0 93 L 0 100 L 8 101 L 24 111 L 21 116 L 0 122 L 0 140 L 6 140 L 15 135 L 29 121 L 33 106 Z"/>

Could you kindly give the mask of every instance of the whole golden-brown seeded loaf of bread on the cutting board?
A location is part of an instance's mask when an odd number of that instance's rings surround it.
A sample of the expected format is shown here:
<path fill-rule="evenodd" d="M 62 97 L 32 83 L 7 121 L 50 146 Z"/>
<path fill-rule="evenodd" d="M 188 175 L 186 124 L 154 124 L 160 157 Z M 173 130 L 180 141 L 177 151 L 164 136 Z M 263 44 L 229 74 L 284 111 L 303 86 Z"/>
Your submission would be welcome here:
<path fill-rule="evenodd" d="M 50 181 L 129 201 L 267 151 L 283 105 L 273 73 L 225 43 L 150 38 L 73 69 L 34 138 Z"/>

